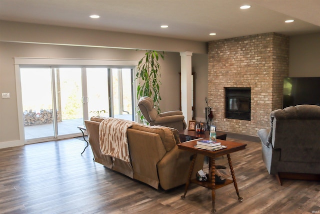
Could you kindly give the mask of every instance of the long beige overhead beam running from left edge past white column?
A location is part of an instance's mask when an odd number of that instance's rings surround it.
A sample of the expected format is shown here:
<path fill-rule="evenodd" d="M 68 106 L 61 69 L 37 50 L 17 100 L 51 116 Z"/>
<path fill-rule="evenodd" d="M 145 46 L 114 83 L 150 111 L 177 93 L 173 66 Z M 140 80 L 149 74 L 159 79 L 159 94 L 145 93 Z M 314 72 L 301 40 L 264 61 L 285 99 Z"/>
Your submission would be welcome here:
<path fill-rule="evenodd" d="M 207 53 L 204 42 L 0 20 L 0 41 Z"/>

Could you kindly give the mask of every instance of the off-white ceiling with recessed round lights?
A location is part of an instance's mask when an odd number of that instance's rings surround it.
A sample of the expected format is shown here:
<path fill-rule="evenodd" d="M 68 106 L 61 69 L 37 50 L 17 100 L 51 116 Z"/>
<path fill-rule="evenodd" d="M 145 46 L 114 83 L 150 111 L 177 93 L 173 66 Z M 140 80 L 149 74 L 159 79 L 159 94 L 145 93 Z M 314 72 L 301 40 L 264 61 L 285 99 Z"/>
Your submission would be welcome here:
<path fill-rule="evenodd" d="M 0 20 L 202 42 L 320 32 L 319 12 L 320 0 L 0 0 Z M 92 14 L 100 18 L 90 19 Z M 287 19 L 295 22 L 285 24 Z"/>

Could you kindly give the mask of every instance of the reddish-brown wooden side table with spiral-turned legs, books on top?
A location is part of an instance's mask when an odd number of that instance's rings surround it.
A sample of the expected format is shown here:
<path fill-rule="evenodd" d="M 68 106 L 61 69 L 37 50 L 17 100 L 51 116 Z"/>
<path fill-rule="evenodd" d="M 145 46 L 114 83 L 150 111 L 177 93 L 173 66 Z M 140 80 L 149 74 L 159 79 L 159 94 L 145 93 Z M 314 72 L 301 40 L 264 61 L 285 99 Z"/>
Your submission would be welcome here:
<path fill-rule="evenodd" d="M 237 183 L 235 180 L 235 175 L 234 175 L 234 171 L 233 171 L 233 167 L 232 167 L 232 163 L 231 163 L 230 153 L 245 149 L 245 146 L 246 146 L 246 144 L 232 142 L 232 141 L 225 141 L 225 140 L 217 140 L 217 141 L 221 142 L 222 145 L 225 145 L 226 148 L 221 149 L 221 150 L 217 150 L 217 151 L 209 151 L 209 150 L 195 148 L 194 146 L 196 145 L 196 140 L 186 141 L 186 142 L 177 144 L 179 149 L 183 149 L 183 150 L 190 151 L 193 153 L 193 158 L 192 158 L 192 162 L 190 164 L 188 178 L 187 178 L 187 181 L 185 184 L 184 194 L 181 196 L 181 198 L 182 199 L 185 198 L 185 194 L 188 190 L 190 182 L 196 183 L 196 184 L 204 186 L 206 188 L 209 188 L 209 189 L 211 189 L 211 196 L 212 196 L 212 210 L 211 210 L 212 213 L 215 213 L 215 211 L 216 211 L 214 208 L 214 200 L 215 200 L 215 189 L 217 189 L 217 188 L 220 188 L 220 187 L 223 187 L 223 186 L 228 185 L 230 183 L 233 183 L 236 194 L 238 196 L 238 200 L 242 201 L 242 197 L 240 197 L 240 195 L 239 195 Z M 209 179 L 208 179 L 208 181 L 198 181 L 197 179 L 191 180 L 193 166 L 194 166 L 194 162 L 195 162 L 197 154 L 202 154 L 202 155 L 209 157 Z M 227 156 L 232 180 L 226 179 L 224 184 L 215 184 L 215 178 L 214 178 L 215 157 L 222 156 L 222 155 Z"/>

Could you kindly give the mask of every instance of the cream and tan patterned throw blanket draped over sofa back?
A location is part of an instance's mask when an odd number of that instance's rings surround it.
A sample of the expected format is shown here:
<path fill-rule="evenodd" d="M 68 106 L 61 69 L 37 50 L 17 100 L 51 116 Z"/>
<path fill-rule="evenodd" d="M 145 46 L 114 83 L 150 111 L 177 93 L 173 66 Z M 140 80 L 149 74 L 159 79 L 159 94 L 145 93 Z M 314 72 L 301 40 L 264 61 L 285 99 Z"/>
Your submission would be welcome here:
<path fill-rule="evenodd" d="M 99 143 L 102 154 L 130 162 L 126 130 L 134 123 L 136 122 L 111 117 L 102 120 L 99 126 Z"/>

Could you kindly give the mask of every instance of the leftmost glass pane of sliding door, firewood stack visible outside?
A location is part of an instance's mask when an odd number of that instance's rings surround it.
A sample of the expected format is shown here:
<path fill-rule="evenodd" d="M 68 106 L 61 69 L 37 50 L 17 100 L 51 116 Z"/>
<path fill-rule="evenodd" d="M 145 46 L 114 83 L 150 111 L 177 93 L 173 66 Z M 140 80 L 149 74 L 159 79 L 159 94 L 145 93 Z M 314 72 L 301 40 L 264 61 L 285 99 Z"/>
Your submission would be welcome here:
<path fill-rule="evenodd" d="M 25 139 L 53 137 L 51 68 L 20 69 L 20 79 Z"/>

